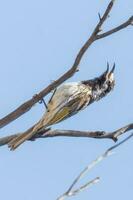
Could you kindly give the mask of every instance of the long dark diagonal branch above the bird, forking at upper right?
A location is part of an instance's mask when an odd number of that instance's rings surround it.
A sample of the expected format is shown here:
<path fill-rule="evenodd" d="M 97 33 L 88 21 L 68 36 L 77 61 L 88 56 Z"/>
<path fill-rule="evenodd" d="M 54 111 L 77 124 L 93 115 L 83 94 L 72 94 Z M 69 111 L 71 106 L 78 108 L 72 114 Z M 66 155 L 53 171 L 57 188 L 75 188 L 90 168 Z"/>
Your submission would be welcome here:
<path fill-rule="evenodd" d="M 101 27 L 103 23 L 108 18 L 108 15 L 113 7 L 114 0 L 110 1 L 109 5 L 107 6 L 103 16 L 99 17 L 99 22 L 96 25 L 94 31 L 92 32 L 89 39 L 85 42 L 83 47 L 80 49 L 79 53 L 77 54 L 75 61 L 72 65 L 72 67 L 64 73 L 60 78 L 58 78 L 56 81 L 48 85 L 46 88 L 44 88 L 41 92 L 39 92 L 37 95 L 34 95 L 31 99 L 24 102 L 22 105 L 20 105 L 18 108 L 16 108 L 13 112 L 8 114 L 7 116 L 0 119 L 0 128 L 3 128 L 4 126 L 8 125 L 12 121 L 16 120 L 18 117 L 23 115 L 24 113 L 28 112 L 33 105 L 35 105 L 37 102 L 39 102 L 43 97 L 45 97 L 47 94 L 49 94 L 52 90 L 54 90 L 56 87 L 58 87 L 60 84 L 62 84 L 64 81 L 72 77 L 76 71 L 78 71 L 79 64 L 81 62 L 81 59 L 84 55 L 84 53 L 87 51 L 87 49 L 91 46 L 91 44 L 101 38 L 107 37 L 111 35 L 112 33 L 115 33 L 121 29 L 126 28 L 128 25 L 133 24 L 132 17 L 127 22 L 123 23 L 122 25 L 118 26 L 115 29 L 112 29 L 108 32 L 105 32 L 103 34 L 99 34 L 101 31 Z M 130 22 L 130 23 L 129 23 Z"/>

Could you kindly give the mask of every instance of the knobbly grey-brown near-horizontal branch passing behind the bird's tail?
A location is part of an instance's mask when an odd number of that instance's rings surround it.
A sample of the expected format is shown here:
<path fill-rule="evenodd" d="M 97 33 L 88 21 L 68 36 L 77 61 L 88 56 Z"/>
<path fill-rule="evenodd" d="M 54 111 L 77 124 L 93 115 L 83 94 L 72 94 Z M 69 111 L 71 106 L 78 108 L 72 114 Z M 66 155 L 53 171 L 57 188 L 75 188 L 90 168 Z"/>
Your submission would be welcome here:
<path fill-rule="evenodd" d="M 133 130 L 133 123 L 128 124 L 122 128 L 119 128 L 113 132 L 105 132 L 105 131 L 78 131 L 78 130 L 51 130 L 42 129 L 40 132 L 36 133 L 34 137 L 30 139 L 30 141 L 35 141 L 39 138 L 49 138 L 56 136 L 66 136 L 66 137 L 88 137 L 88 138 L 97 138 L 97 139 L 112 139 L 116 142 L 120 135 Z M 13 134 L 10 136 L 0 138 L 0 146 L 8 144 L 13 138 L 20 135 Z"/>

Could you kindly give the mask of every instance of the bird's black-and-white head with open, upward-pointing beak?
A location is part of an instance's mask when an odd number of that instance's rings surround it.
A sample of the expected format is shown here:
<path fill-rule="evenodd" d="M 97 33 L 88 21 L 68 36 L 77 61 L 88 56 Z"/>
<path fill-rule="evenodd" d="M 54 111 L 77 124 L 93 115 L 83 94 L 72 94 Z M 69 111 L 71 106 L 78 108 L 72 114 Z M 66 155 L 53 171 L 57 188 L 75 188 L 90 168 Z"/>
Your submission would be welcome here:
<path fill-rule="evenodd" d="M 83 84 L 92 88 L 93 100 L 99 100 L 114 88 L 114 70 L 115 63 L 111 70 L 109 70 L 109 63 L 107 63 L 107 69 L 102 75 L 88 81 L 82 81 Z"/>

